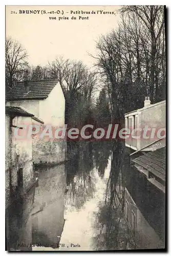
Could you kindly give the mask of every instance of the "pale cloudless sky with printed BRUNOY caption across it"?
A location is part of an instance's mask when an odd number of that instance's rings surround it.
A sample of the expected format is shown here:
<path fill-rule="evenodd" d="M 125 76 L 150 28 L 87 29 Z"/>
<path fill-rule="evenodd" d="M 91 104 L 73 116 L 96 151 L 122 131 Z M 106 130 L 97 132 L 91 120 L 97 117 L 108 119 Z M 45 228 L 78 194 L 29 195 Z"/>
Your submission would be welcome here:
<path fill-rule="evenodd" d="M 99 36 L 117 27 L 118 9 L 119 6 L 6 6 L 6 36 L 23 45 L 30 65 L 47 65 L 56 56 L 63 56 L 82 60 L 91 67 L 95 60 L 89 53 L 96 55 Z M 26 10 L 35 13 L 26 14 Z M 55 13 L 57 11 L 60 14 Z M 82 11 L 95 13 L 83 14 Z M 71 19 L 72 16 L 76 19 Z M 69 19 L 63 19 L 66 17 Z"/>

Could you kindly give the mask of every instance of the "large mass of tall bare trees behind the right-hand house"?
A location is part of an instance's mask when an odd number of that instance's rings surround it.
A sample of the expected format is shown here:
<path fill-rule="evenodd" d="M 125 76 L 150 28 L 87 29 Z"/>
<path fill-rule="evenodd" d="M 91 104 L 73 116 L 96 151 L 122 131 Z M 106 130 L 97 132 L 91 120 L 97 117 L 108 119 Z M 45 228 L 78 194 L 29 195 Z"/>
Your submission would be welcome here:
<path fill-rule="evenodd" d="M 96 67 L 107 89 L 112 121 L 165 99 L 165 31 L 162 6 L 126 6 L 115 30 L 96 45 Z"/>

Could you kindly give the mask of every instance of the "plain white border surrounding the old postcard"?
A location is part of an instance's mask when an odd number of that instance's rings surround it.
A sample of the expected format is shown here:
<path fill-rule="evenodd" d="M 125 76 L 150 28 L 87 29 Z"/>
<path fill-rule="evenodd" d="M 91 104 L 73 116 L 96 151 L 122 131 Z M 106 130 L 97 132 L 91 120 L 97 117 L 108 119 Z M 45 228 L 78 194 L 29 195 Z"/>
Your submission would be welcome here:
<path fill-rule="evenodd" d="M 48 4 L 47 4 L 48 3 Z M 30 1 L 23 1 L 23 0 L 18 0 L 18 1 L 1 1 L 1 4 L 0 4 L 0 24 L 1 24 L 1 85 L 0 85 L 0 88 L 1 88 L 1 93 L 0 93 L 0 104 L 1 104 L 1 237 L 0 237 L 0 241 L 1 241 L 1 254 L 4 255 L 6 254 L 7 252 L 5 252 L 5 175 L 4 175 L 4 170 L 5 170 L 5 5 L 103 5 L 103 6 L 106 6 L 106 5 L 163 5 L 165 4 L 168 8 L 169 8 L 169 5 L 170 5 L 170 1 L 165 1 L 165 2 L 162 2 L 162 1 L 119 1 L 119 2 L 114 2 L 114 1 L 109 1 L 109 0 L 103 0 L 103 1 L 94 1 L 94 0 L 91 0 L 91 1 L 78 1 L 78 0 L 75 0 L 75 1 L 66 1 L 66 0 L 58 0 L 58 1 L 52 1 L 52 0 L 49 0 L 49 1 L 45 1 L 45 0 L 41 0 L 41 1 L 33 1 L 33 0 L 30 0 Z M 170 8 L 169 8 L 170 9 Z M 170 10 L 169 10 L 170 12 Z M 169 14 L 169 13 L 168 13 Z M 167 27 L 169 27 L 169 24 L 170 24 L 170 16 L 168 17 L 168 20 L 167 20 Z M 167 41 L 167 54 L 169 53 L 169 43 L 170 43 L 170 33 L 169 33 L 169 28 L 167 29 L 167 32 L 168 32 L 168 41 Z M 167 56 L 167 65 L 169 67 L 169 60 L 170 60 L 170 54 L 169 56 Z M 170 86 L 170 76 L 169 76 L 169 72 L 170 71 L 170 67 L 169 69 L 167 68 L 167 88 L 168 88 L 168 99 L 167 99 L 167 104 L 168 104 L 168 133 L 167 133 L 167 136 L 169 136 L 169 128 L 170 128 L 170 122 L 171 122 L 171 119 L 169 118 L 169 112 L 170 112 L 170 105 L 171 105 L 171 97 L 170 97 L 170 94 L 171 94 L 171 90 L 169 90 L 169 86 Z M 171 152 L 171 146 L 170 146 L 170 136 L 169 136 L 169 144 L 168 144 L 168 148 L 167 148 L 167 152 L 168 152 L 168 160 L 170 159 L 170 152 Z M 168 166 L 167 166 L 167 176 L 169 177 L 168 181 L 167 181 L 167 186 L 168 186 L 168 203 L 170 202 L 170 198 L 171 198 L 171 195 L 170 195 L 170 189 L 169 189 L 169 184 L 171 184 L 171 181 L 170 181 L 170 175 L 169 175 L 169 171 L 171 170 L 170 168 L 170 164 L 168 163 Z M 169 218 L 169 213 L 170 213 L 170 204 L 169 204 L 169 208 L 168 208 L 168 218 Z M 169 242 L 170 242 L 170 239 L 169 239 L 169 230 L 171 230 L 171 226 L 170 226 L 170 221 L 168 221 L 168 249 L 170 248 L 169 246 Z M 17 253 L 17 252 L 15 252 Z M 117 253 L 117 252 L 115 252 Z M 103 253 L 105 254 L 105 253 Z M 123 253 L 121 253 L 123 254 Z M 143 253 L 145 254 L 145 253 Z"/>

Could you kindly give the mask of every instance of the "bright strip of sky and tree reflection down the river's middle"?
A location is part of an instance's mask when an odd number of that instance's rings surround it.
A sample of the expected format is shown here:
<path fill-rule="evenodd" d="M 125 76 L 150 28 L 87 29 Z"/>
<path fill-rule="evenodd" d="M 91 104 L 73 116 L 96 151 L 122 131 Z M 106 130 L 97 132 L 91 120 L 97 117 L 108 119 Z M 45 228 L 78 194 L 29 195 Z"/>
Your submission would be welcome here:
<path fill-rule="evenodd" d="M 75 193 L 70 194 L 70 189 L 66 196 L 65 204 L 65 219 L 66 223 L 63 228 L 59 250 L 95 250 L 96 246 L 93 242 L 93 237 L 96 236 L 94 222 L 98 214 L 98 204 L 105 200 L 106 185 L 110 176 L 111 160 L 108 157 L 108 165 L 102 170 L 103 178 L 96 168 L 96 160 L 94 154 L 88 154 L 89 148 L 92 152 L 95 151 L 94 145 L 84 143 L 81 145 L 83 151 L 79 151 L 80 158 L 78 171 L 70 181 L 70 186 L 75 182 L 77 184 L 74 190 Z M 95 145 L 97 148 L 97 145 Z M 110 155 L 110 151 L 108 156 Z M 81 181 L 84 184 L 83 193 L 81 189 Z M 76 204 L 73 204 L 77 202 Z M 78 203 L 79 202 L 79 203 Z M 80 203 L 81 202 L 81 203 Z M 79 207 L 78 207 L 79 204 Z"/>

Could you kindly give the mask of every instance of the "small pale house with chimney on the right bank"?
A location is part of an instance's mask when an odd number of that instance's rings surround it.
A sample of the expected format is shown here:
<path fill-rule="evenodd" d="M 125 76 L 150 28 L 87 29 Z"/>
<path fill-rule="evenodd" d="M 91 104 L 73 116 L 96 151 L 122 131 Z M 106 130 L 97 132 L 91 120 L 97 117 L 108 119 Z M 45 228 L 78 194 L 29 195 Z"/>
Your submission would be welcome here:
<path fill-rule="evenodd" d="M 161 144 L 165 144 L 162 131 L 166 127 L 166 101 L 160 101 L 151 104 L 149 97 L 144 100 L 144 107 L 132 112 L 126 113 L 125 128 L 135 131 L 125 139 L 125 146 L 130 147 L 133 151 L 153 151 Z M 144 129 L 148 129 L 143 136 Z M 154 131 L 154 136 L 152 131 Z M 161 131 L 161 134 L 160 134 Z M 163 138 L 163 139 L 161 139 Z"/>

